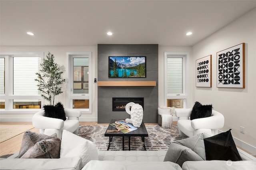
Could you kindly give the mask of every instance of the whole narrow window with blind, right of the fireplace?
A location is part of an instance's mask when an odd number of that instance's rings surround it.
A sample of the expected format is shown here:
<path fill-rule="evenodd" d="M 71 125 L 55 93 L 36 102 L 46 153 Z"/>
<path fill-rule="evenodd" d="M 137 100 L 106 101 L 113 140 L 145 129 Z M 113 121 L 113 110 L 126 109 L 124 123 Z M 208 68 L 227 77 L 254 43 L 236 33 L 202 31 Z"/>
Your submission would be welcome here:
<path fill-rule="evenodd" d="M 164 53 L 164 97 L 165 105 L 186 108 L 185 66 L 188 53 Z"/>

